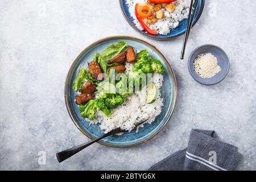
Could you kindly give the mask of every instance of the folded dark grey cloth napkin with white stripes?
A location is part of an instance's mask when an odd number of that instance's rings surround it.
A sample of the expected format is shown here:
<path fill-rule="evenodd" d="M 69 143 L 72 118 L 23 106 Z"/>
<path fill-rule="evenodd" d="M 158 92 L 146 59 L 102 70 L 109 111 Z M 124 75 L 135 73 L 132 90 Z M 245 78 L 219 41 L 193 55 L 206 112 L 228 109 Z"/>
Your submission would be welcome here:
<path fill-rule="evenodd" d="M 163 159 L 150 171 L 234 171 L 242 158 L 238 148 L 218 140 L 214 131 L 190 133 L 188 147 Z"/>

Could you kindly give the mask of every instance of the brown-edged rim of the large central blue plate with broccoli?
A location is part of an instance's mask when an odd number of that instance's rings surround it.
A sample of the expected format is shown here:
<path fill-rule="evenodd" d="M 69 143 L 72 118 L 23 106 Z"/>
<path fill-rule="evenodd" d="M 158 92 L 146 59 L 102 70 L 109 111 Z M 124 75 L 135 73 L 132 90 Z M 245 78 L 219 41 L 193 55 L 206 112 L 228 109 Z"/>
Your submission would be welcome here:
<path fill-rule="evenodd" d="M 65 105 L 67 107 L 67 110 L 68 110 L 68 114 L 69 114 L 69 117 L 72 119 L 73 123 L 76 125 L 76 127 L 81 131 L 82 134 L 84 134 L 86 137 L 90 138 L 90 139 L 94 139 L 92 138 L 89 134 L 87 134 L 84 130 L 82 130 L 82 128 L 79 126 L 79 124 L 77 123 L 75 117 L 73 117 L 72 115 L 72 111 L 71 111 L 71 102 L 70 102 L 70 98 L 68 97 L 68 80 L 69 80 L 69 77 L 71 77 L 71 73 L 72 73 L 72 70 L 73 70 L 73 67 L 75 66 L 76 62 L 78 61 L 79 57 L 86 51 L 88 51 L 90 48 L 96 46 L 97 44 L 101 43 L 101 42 L 105 42 L 107 40 L 110 40 L 110 39 L 135 39 L 135 40 L 139 40 L 145 44 L 147 44 L 148 46 L 150 47 L 153 47 L 155 48 L 155 50 L 163 57 L 163 61 L 164 63 L 166 63 L 168 69 L 170 70 L 171 72 L 171 75 L 172 77 L 174 78 L 174 101 L 173 101 L 173 105 L 169 111 L 169 114 L 168 114 L 168 117 L 166 119 L 166 122 L 163 123 L 163 125 L 157 130 L 155 131 L 154 134 L 152 134 L 150 137 L 148 137 L 147 139 L 145 140 L 142 140 L 142 141 L 139 141 L 137 143 L 133 143 L 133 144 L 127 144 L 127 145 L 123 145 L 123 146 L 117 146 L 115 144 L 110 144 L 110 143 L 106 143 L 102 140 L 98 141 L 97 143 L 100 143 L 100 144 L 103 144 L 105 146 L 109 146 L 109 147 L 118 147 L 118 148 L 123 148 L 123 147 L 131 147 L 131 146 L 136 146 L 138 144 L 142 144 L 144 142 L 147 142 L 148 140 L 152 139 L 155 137 L 155 135 L 159 134 L 160 131 L 163 130 L 163 128 L 167 125 L 167 123 L 170 121 L 170 118 L 172 116 L 172 114 L 174 113 L 174 108 L 175 108 L 175 105 L 176 105 L 176 100 L 177 100 L 177 82 L 176 82 L 176 76 L 175 76 L 175 73 L 174 73 L 174 70 L 172 69 L 171 67 L 171 64 L 168 62 L 168 60 L 166 59 L 166 57 L 163 55 L 162 52 L 159 51 L 158 48 L 156 48 L 155 46 L 153 46 L 152 44 L 146 42 L 145 40 L 142 40 L 142 39 L 138 39 L 138 38 L 135 38 L 133 36 L 109 36 L 109 37 L 106 37 L 106 38 L 103 38 L 103 39 L 100 39 L 100 40 L 97 40 L 96 42 L 90 44 L 89 46 L 87 46 L 84 50 L 81 51 L 81 53 L 79 53 L 78 56 L 76 56 L 75 60 L 73 61 L 73 63 L 71 64 L 71 67 L 69 68 L 69 71 L 68 71 L 68 75 L 66 77 L 66 80 L 65 80 L 65 86 L 64 86 L 64 98 L 65 98 Z"/>

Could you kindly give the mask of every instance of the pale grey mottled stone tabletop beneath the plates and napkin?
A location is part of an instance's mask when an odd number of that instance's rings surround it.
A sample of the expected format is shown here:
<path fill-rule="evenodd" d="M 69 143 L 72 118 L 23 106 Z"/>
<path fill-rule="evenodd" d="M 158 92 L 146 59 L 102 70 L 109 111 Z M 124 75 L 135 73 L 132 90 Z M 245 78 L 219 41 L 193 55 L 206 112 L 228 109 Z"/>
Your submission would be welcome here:
<path fill-rule="evenodd" d="M 147 169 L 184 148 L 192 128 L 216 130 L 239 147 L 238 169 L 256 169 L 256 2 L 207 0 L 192 29 L 186 58 L 205 43 L 222 47 L 230 73 L 215 86 L 198 84 L 181 61 L 183 36 L 147 39 L 129 26 L 119 2 L 0 1 L 0 169 Z M 73 125 L 63 88 L 73 59 L 90 43 L 112 35 L 147 40 L 170 60 L 178 84 L 171 121 L 154 139 L 131 148 L 94 144 L 59 164 L 55 153 L 88 141 Z M 38 163 L 40 151 L 46 164 Z"/>

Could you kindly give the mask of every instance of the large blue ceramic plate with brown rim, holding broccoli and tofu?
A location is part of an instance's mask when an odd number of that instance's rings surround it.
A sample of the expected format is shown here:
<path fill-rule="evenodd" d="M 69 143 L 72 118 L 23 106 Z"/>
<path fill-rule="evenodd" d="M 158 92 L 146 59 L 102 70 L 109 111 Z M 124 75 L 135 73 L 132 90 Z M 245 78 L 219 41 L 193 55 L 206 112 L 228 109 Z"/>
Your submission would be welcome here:
<path fill-rule="evenodd" d="M 162 109 L 162 113 L 155 119 L 155 121 L 152 122 L 152 124 L 144 125 L 143 128 L 139 129 L 138 133 L 133 130 L 130 133 L 124 133 L 121 136 L 114 135 L 112 137 L 102 139 L 99 142 L 106 146 L 112 147 L 133 146 L 135 144 L 146 142 L 148 139 L 151 139 L 158 134 L 159 131 L 162 130 L 170 120 L 172 112 L 174 111 L 177 97 L 177 86 L 174 71 L 166 58 L 154 46 L 144 42 L 143 40 L 127 36 L 114 36 L 98 40 L 85 48 L 84 51 L 82 51 L 80 55 L 76 57 L 75 61 L 73 61 L 73 64 L 71 65 L 71 68 L 69 69 L 65 83 L 65 104 L 71 119 L 79 130 L 90 139 L 95 139 L 103 135 L 103 131 L 98 125 L 89 125 L 89 122 L 80 116 L 78 106 L 75 103 L 76 92 L 72 89 L 72 82 L 75 79 L 80 67 L 88 67 L 88 61 L 92 59 L 94 53 L 102 52 L 105 48 L 110 46 L 110 44 L 116 44 L 121 40 L 125 41 L 129 46 L 133 46 L 135 49 L 147 49 L 152 57 L 162 61 L 165 72 L 163 87 L 160 92 L 162 93 L 164 107 Z"/>

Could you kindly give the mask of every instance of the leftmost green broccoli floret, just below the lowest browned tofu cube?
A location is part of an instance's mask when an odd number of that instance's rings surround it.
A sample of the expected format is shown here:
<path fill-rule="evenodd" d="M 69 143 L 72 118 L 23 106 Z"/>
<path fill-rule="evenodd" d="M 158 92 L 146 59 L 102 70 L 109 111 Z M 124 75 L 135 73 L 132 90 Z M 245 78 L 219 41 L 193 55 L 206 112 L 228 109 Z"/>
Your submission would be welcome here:
<path fill-rule="evenodd" d="M 80 105 L 79 110 L 81 117 L 92 120 L 94 118 L 94 114 L 96 113 L 96 101 L 90 100 L 85 105 Z"/>

